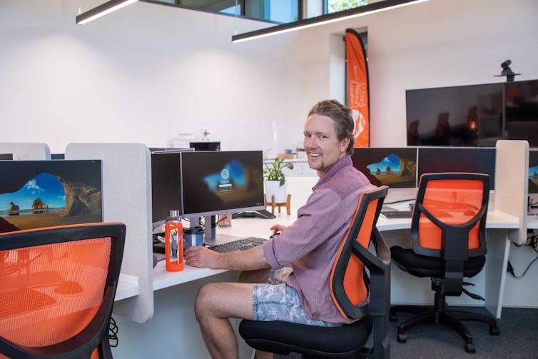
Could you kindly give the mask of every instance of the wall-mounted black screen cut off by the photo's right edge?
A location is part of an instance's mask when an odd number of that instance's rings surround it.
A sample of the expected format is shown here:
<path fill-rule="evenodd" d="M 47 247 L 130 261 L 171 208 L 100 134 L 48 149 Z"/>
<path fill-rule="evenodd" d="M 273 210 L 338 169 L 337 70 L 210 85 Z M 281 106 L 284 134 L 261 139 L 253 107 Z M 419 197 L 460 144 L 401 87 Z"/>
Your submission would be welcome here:
<path fill-rule="evenodd" d="M 504 106 L 507 138 L 538 146 L 538 80 L 507 82 Z"/>

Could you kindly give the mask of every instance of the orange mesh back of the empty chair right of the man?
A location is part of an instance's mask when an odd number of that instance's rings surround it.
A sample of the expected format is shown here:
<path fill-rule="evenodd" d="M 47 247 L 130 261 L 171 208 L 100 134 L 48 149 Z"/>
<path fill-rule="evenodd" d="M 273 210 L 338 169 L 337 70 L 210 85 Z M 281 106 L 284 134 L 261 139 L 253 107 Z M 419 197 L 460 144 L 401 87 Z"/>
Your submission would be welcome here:
<path fill-rule="evenodd" d="M 422 175 L 411 224 L 413 251 L 460 261 L 486 253 L 488 201 L 489 176 L 482 173 Z"/>

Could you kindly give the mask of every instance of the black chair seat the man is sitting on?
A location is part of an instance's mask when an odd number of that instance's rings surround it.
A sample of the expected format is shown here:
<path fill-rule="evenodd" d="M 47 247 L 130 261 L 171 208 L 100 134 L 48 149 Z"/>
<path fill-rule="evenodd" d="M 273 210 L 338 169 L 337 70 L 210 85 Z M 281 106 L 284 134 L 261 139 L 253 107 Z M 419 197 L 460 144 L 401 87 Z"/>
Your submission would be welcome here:
<path fill-rule="evenodd" d="M 371 330 L 370 316 L 334 328 L 255 320 L 243 320 L 239 325 L 241 337 L 256 350 L 282 355 L 303 353 L 314 358 L 353 357 L 364 347 Z"/>

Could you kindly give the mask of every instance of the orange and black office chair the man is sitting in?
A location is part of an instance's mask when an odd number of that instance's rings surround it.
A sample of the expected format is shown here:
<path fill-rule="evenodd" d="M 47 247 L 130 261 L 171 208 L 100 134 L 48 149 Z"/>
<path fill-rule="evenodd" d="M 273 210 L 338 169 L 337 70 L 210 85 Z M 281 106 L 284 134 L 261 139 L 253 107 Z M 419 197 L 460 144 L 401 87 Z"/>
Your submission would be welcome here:
<path fill-rule="evenodd" d="M 242 320 L 239 333 L 250 347 L 305 358 L 389 358 L 390 250 L 375 228 L 387 186 L 363 193 L 333 263 L 333 302 L 352 324 L 326 328 L 284 321 Z M 368 251 L 370 241 L 377 256 Z M 369 270 L 370 278 L 366 274 Z M 373 326 L 373 348 L 365 348 Z"/>

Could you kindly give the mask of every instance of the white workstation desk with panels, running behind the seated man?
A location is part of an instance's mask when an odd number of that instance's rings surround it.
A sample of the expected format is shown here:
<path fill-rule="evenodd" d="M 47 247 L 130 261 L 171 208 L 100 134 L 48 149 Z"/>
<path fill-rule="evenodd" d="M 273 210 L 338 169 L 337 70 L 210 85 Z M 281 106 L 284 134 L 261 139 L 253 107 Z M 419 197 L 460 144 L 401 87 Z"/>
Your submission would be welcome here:
<path fill-rule="evenodd" d="M 234 219 L 231 227 L 217 229 L 218 241 L 248 236 L 268 238 L 271 233 L 270 226 L 276 223 L 290 225 L 296 218 L 284 213 L 278 213 L 276 216 L 274 219 Z M 489 238 L 486 267 L 473 278 L 477 288 L 472 291 L 483 295 L 486 298 L 486 308 L 500 318 L 506 278 L 504 268 L 509 252 L 507 236 L 509 231 L 517 231 L 519 221 L 516 217 L 500 211 L 489 211 L 487 220 Z M 377 227 L 389 246 L 397 243 L 409 246 L 410 218 L 387 219 L 380 216 Z M 235 281 L 238 273 L 191 266 L 185 266 L 181 272 L 167 272 L 164 267 L 165 263 L 161 261 L 153 269 L 153 318 L 145 323 L 135 323 L 118 315 L 114 316 L 119 327 L 119 345 L 118 348 L 113 348 L 115 358 L 210 358 L 194 318 L 194 298 L 203 283 Z M 395 267 L 392 268 L 392 278 L 392 303 L 431 303 L 429 279 L 423 283 L 420 283 L 418 278 L 411 280 L 409 275 Z M 456 298 L 450 303 L 481 305 L 476 300 L 465 297 Z M 235 328 L 238 323 L 239 320 L 232 320 Z M 240 340 L 240 358 L 250 358 L 250 353 L 250 348 Z"/>

